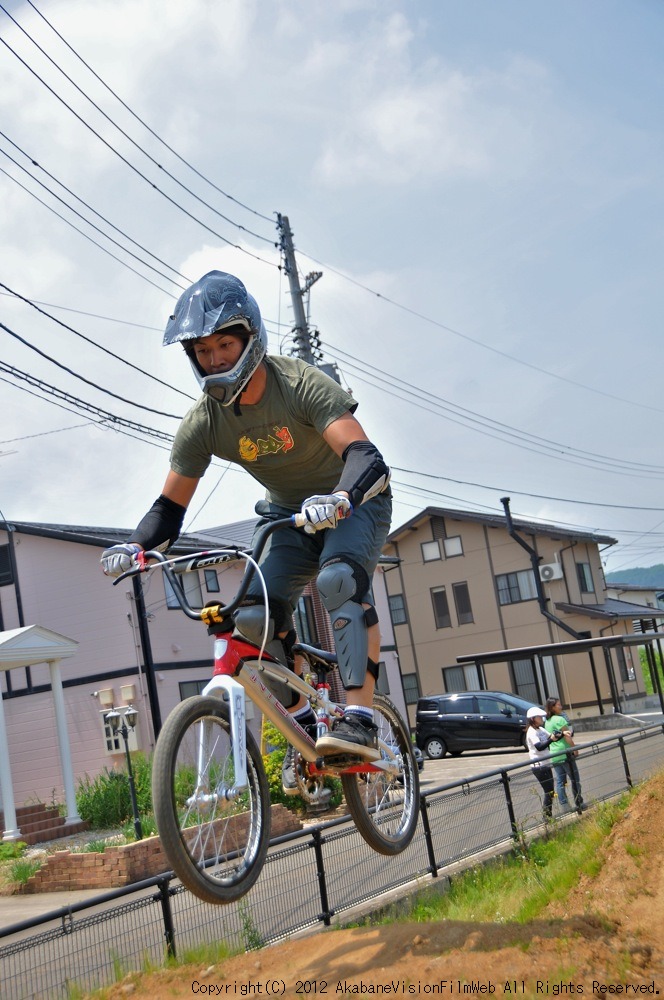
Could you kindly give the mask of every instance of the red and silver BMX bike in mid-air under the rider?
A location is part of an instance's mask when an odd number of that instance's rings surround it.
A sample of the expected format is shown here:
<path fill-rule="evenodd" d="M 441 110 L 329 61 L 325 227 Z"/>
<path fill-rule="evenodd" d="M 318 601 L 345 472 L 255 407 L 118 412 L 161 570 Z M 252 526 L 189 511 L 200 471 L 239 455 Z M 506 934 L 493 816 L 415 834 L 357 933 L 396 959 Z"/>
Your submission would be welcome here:
<path fill-rule="evenodd" d="M 273 723 L 295 751 L 298 786 L 327 775 L 341 779 L 346 806 L 357 830 L 385 855 L 403 851 L 413 838 L 419 813 L 419 778 L 409 731 L 384 695 L 374 696 L 380 758 L 371 763 L 350 755 L 321 757 L 313 739 L 289 715 L 274 693 L 275 682 L 304 695 L 316 714 L 316 737 L 343 706 L 330 698 L 329 675 L 336 656 L 298 642 L 303 676 L 271 655 L 265 584 L 265 627 L 260 645 L 232 627 L 232 615 L 244 599 L 267 539 L 286 525 L 301 526 L 299 515 L 268 522 L 251 553 L 219 549 L 167 559 L 161 552 L 139 553 L 119 579 L 160 568 L 184 613 L 202 621 L 214 635 L 214 672 L 202 694 L 187 698 L 166 719 L 155 747 L 152 801 L 162 847 L 174 872 L 192 893 L 208 903 L 230 903 L 258 879 L 270 841 L 270 794 L 263 759 L 246 725 L 246 698 Z M 230 604 L 192 608 L 180 574 L 245 560 L 237 593 Z M 118 580 L 119 582 L 119 580 Z M 305 795 L 306 797 L 306 795 Z"/>

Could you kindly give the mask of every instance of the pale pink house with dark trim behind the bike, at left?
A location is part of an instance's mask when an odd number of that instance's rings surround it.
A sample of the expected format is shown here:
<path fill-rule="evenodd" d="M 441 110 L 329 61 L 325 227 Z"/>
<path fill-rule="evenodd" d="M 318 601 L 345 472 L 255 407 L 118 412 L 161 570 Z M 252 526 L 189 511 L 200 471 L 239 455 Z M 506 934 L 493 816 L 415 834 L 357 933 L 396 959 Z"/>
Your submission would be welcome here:
<path fill-rule="evenodd" d="M 241 521 L 183 536 L 174 551 L 246 548 L 254 524 Z M 102 575 L 102 549 L 127 537 L 116 528 L 0 522 L 0 633 L 36 624 L 78 643 L 61 667 L 75 780 L 105 766 L 123 766 L 124 744 L 104 720 L 111 707 L 131 704 L 138 710 L 130 748 L 149 752 L 160 720 L 197 693 L 211 673 L 205 627 L 182 614 L 160 573 L 141 584 L 134 579 L 117 586 Z M 380 685 L 405 714 L 384 582 L 391 568 L 387 562 L 374 578 L 383 632 Z M 241 572 L 240 563 L 229 563 L 223 570 L 188 574 L 192 604 L 229 599 Z M 300 602 L 298 631 L 305 641 L 333 648 L 315 588 Z M 47 664 L 3 672 L 1 685 L 16 803 L 63 802 Z M 251 725 L 258 733 L 260 719 Z"/>

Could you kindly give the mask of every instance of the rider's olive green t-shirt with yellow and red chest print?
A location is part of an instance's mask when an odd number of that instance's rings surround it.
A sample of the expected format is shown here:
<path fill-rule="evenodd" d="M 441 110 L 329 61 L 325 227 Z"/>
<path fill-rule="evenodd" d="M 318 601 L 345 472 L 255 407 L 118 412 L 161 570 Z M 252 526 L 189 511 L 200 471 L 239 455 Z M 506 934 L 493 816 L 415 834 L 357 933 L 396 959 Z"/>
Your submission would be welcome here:
<path fill-rule="evenodd" d="M 222 406 L 204 395 L 184 417 L 171 468 L 200 479 L 213 456 L 235 462 L 266 489 L 266 498 L 291 510 L 314 493 L 330 493 L 343 462 L 323 431 L 357 402 L 334 379 L 297 358 L 266 357 L 263 398 L 252 406 Z"/>

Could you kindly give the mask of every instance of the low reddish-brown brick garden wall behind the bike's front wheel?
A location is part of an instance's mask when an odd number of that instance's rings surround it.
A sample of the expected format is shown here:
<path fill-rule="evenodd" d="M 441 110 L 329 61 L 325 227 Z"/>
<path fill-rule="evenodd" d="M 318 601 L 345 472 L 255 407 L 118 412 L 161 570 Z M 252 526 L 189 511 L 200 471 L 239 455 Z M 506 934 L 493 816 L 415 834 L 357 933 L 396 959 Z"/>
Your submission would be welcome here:
<path fill-rule="evenodd" d="M 285 806 L 272 806 L 272 836 L 300 830 L 299 819 Z M 159 837 L 146 837 L 103 852 L 56 851 L 21 886 L 20 892 L 57 892 L 66 889 L 116 889 L 169 871 Z"/>

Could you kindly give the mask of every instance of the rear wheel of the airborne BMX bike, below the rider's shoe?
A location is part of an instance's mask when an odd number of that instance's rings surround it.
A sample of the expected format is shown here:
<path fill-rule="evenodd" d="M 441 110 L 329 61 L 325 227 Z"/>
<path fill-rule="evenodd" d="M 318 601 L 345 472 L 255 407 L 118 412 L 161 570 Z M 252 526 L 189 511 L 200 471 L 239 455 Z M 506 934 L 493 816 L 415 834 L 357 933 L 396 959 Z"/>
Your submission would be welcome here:
<path fill-rule="evenodd" d="M 420 781 L 410 733 L 397 708 L 374 696 L 378 738 L 401 758 L 398 775 L 383 771 L 342 774 L 348 811 L 363 839 L 379 854 L 400 854 L 410 844 L 419 817 Z M 385 754 L 385 756 L 387 756 Z"/>

